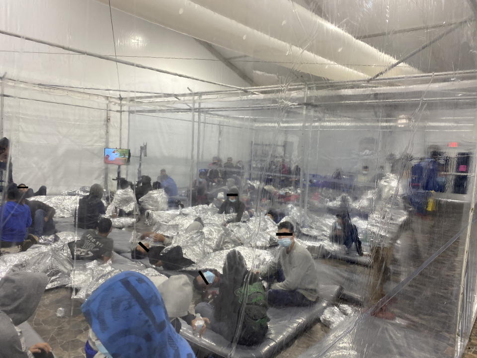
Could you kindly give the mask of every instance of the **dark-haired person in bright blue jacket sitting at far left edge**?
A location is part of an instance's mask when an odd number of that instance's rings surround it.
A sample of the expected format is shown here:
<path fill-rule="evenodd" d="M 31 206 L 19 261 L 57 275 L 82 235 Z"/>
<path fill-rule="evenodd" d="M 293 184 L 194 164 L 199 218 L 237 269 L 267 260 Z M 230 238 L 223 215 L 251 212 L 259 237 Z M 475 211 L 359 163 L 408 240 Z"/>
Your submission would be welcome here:
<path fill-rule="evenodd" d="M 0 206 L 0 254 L 26 251 L 38 238 L 27 234 L 27 228 L 31 225 L 30 208 L 21 203 L 20 190 L 15 183 L 8 185 L 7 201 Z"/>

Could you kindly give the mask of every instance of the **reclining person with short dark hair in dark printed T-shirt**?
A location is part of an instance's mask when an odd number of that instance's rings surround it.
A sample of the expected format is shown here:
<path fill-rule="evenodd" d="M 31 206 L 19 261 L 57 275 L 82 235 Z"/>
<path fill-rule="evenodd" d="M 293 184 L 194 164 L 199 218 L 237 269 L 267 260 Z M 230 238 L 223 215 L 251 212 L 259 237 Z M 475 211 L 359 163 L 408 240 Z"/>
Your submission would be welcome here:
<path fill-rule="evenodd" d="M 81 239 L 68 243 L 73 258 L 76 260 L 101 259 L 107 262 L 113 252 L 113 239 L 108 238 L 111 230 L 111 219 L 99 219 L 96 230 L 86 230 Z"/>

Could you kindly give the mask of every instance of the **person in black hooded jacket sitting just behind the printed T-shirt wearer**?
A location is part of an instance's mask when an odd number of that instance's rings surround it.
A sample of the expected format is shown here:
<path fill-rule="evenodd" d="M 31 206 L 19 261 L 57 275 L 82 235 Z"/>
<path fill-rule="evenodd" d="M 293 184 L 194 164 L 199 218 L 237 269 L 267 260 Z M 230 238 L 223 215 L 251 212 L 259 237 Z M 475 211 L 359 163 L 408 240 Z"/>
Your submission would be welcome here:
<path fill-rule="evenodd" d="M 77 222 L 79 228 L 96 229 L 99 215 L 106 213 L 106 208 L 101 200 L 102 197 L 103 187 L 99 184 L 93 184 L 89 189 L 89 195 L 79 199 Z"/>

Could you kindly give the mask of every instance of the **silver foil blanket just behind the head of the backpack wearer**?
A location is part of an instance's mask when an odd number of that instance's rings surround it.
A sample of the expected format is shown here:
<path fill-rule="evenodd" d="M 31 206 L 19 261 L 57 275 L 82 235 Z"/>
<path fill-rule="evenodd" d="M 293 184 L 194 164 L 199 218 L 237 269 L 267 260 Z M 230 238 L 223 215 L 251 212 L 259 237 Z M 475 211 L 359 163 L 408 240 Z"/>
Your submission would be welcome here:
<path fill-rule="evenodd" d="M 195 265 L 191 265 L 187 269 L 217 269 L 219 272 L 222 272 L 224 260 L 231 250 L 238 250 L 250 269 L 258 269 L 260 266 L 273 260 L 273 255 L 269 251 L 239 246 L 234 249 L 216 251 L 209 254 L 203 260 L 198 261 Z"/>

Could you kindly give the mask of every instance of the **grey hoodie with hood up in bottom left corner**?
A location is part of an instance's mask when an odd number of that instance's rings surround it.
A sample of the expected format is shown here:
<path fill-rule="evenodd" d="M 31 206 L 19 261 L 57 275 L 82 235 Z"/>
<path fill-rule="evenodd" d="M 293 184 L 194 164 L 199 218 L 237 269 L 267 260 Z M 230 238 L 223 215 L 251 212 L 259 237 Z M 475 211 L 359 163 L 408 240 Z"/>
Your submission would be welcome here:
<path fill-rule="evenodd" d="M 31 357 L 15 326 L 35 312 L 47 283 L 46 274 L 35 272 L 12 272 L 0 280 L 0 358 Z"/>

